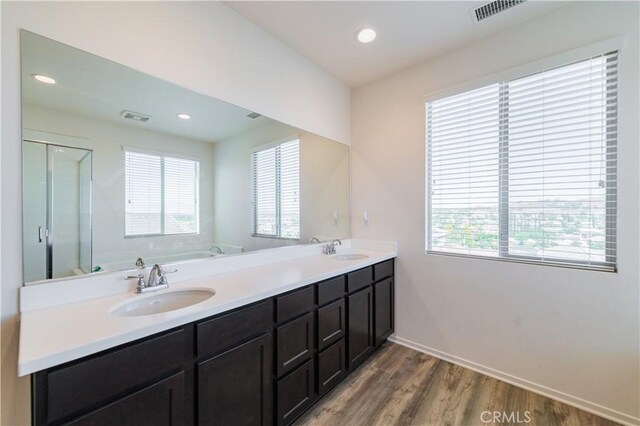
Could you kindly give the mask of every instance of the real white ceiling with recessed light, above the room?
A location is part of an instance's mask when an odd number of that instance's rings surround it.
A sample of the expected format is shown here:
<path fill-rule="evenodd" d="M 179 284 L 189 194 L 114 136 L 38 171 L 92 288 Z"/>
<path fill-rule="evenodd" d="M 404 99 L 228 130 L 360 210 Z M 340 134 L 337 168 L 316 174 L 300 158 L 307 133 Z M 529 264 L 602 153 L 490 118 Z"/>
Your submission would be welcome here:
<path fill-rule="evenodd" d="M 232 1 L 229 7 L 348 86 L 357 87 L 560 8 L 527 1 L 475 23 L 483 1 Z M 360 28 L 378 38 L 356 41 Z"/>

